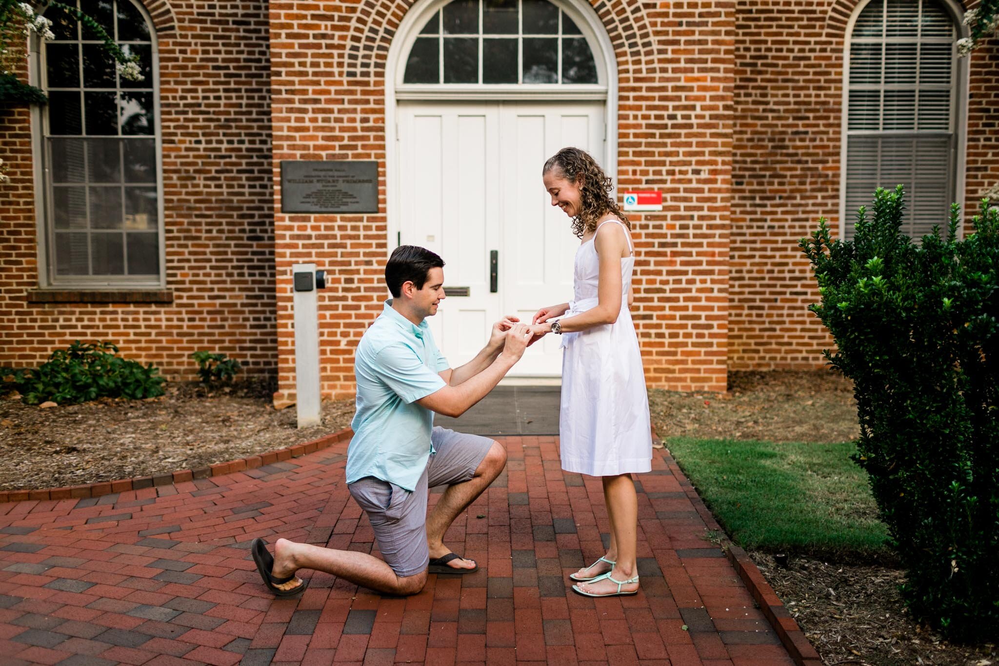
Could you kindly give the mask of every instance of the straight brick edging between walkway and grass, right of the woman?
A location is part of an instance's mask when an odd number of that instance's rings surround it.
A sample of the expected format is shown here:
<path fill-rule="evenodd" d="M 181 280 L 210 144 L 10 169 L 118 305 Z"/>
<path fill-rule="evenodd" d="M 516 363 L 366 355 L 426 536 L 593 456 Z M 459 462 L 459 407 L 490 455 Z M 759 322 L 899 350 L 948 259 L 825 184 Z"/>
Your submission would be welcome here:
<path fill-rule="evenodd" d="M 652 437 L 659 439 L 654 427 L 652 428 Z M 661 442 L 661 439 L 659 441 Z M 668 452 L 669 448 L 666 447 L 661 450 Z M 672 458 L 672 453 L 669 453 L 669 460 L 667 460 L 666 464 L 669 466 L 669 470 L 673 473 L 673 476 L 679 481 L 680 487 L 686 493 L 687 498 L 693 504 L 708 529 L 717 530 L 721 534 L 724 534 L 721 526 L 714 519 L 714 515 L 707 509 L 704 501 L 694 489 L 693 484 L 690 483 L 690 479 L 686 477 L 679 468 L 679 465 Z M 745 584 L 746 589 L 749 590 L 749 594 L 752 595 L 753 600 L 759 605 L 760 610 L 766 617 L 766 621 L 773 627 L 774 632 L 780 638 L 781 644 L 787 650 L 791 659 L 794 660 L 794 663 L 798 666 L 822 666 L 822 660 L 818 656 L 818 652 L 815 651 L 812 644 L 805 638 L 801 627 L 791 617 L 780 597 L 773 591 L 770 584 L 766 582 L 759 567 L 749 558 L 746 551 L 732 543 L 727 536 L 721 539 L 721 549 L 725 552 L 725 556 L 735 568 L 736 573 L 739 574 L 739 578 Z"/>

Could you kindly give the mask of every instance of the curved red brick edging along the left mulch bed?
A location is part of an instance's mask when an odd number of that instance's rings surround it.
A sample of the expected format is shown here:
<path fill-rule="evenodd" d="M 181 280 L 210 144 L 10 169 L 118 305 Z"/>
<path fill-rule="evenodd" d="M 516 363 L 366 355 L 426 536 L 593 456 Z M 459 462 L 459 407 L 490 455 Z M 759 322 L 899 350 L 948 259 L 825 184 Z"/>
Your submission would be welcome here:
<path fill-rule="evenodd" d="M 140 476 L 138 478 L 125 478 L 117 481 L 101 481 L 99 483 L 88 483 L 85 485 L 72 485 L 64 488 L 43 488 L 41 490 L 0 490 L 0 503 L 21 502 L 27 500 L 52 500 L 52 499 L 84 499 L 87 497 L 100 497 L 113 492 L 125 492 L 128 490 L 140 490 L 160 485 L 170 485 L 172 483 L 183 483 L 193 481 L 196 478 L 209 478 L 210 476 L 222 476 L 244 469 L 256 469 L 273 462 L 297 458 L 300 455 L 313 453 L 323 448 L 329 448 L 333 444 L 340 443 L 345 439 L 350 439 L 353 434 L 351 428 L 344 428 L 333 434 L 328 434 L 313 441 L 303 444 L 295 444 L 288 448 L 279 448 L 275 451 L 251 455 L 248 458 L 238 458 L 228 462 L 217 462 L 213 465 L 198 467 L 197 469 L 181 469 L 175 472 L 156 474 L 153 476 Z"/>

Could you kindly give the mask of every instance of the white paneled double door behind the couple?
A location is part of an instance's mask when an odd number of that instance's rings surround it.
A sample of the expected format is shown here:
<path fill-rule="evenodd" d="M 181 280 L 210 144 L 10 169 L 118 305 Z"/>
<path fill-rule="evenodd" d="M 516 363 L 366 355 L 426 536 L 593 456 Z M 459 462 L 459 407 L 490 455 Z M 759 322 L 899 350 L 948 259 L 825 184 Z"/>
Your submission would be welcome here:
<path fill-rule="evenodd" d="M 544 161 L 573 146 L 604 159 L 602 103 L 401 103 L 402 245 L 445 261 L 451 293 L 430 319 L 452 367 L 472 359 L 505 315 L 530 323 L 572 298 L 579 242 L 550 205 Z M 510 374 L 557 376 L 555 335 L 529 347 Z"/>

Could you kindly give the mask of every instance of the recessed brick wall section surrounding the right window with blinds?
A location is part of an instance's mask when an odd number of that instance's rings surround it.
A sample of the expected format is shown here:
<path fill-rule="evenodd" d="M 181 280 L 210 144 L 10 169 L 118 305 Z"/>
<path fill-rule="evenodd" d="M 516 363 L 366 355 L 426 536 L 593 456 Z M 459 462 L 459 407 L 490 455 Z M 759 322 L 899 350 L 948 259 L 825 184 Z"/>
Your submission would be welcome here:
<path fill-rule="evenodd" d="M 736 7 L 728 367 L 816 367 L 832 340 L 798 240 L 839 233 L 846 23 L 856 0 L 740 0 Z M 999 44 L 972 57 L 966 210 L 999 183 Z M 941 224 L 945 222 L 941 218 Z"/>

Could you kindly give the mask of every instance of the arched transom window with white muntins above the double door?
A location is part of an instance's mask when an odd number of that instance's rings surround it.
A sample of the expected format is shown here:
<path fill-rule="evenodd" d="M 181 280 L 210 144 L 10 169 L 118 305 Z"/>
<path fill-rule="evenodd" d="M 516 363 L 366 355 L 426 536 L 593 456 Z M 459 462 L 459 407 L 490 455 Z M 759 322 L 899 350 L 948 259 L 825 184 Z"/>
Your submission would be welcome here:
<path fill-rule="evenodd" d="M 406 84 L 596 84 L 579 27 L 546 0 L 455 0 L 410 50 Z"/>

